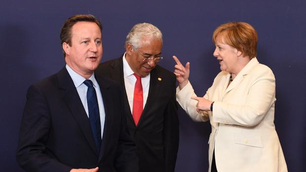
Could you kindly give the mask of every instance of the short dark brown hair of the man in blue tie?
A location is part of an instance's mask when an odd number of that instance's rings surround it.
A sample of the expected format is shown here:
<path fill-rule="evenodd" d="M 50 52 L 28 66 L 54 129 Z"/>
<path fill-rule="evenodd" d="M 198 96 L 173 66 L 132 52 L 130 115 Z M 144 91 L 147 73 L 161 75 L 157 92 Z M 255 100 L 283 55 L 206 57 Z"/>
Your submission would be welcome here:
<path fill-rule="evenodd" d="M 60 38 L 61 38 L 61 46 L 63 48 L 63 43 L 66 42 L 68 43 L 68 45 L 72 46 L 71 43 L 71 29 L 72 27 L 77 23 L 77 22 L 93 22 L 96 23 L 98 25 L 98 27 L 100 28 L 100 31 L 102 33 L 102 25 L 101 22 L 93 15 L 91 14 L 76 14 L 75 16 L 72 16 L 70 18 L 68 18 L 62 29 L 61 29 L 61 34 L 60 34 Z M 66 53 L 63 49 L 63 55 L 64 58 L 66 56 Z"/>

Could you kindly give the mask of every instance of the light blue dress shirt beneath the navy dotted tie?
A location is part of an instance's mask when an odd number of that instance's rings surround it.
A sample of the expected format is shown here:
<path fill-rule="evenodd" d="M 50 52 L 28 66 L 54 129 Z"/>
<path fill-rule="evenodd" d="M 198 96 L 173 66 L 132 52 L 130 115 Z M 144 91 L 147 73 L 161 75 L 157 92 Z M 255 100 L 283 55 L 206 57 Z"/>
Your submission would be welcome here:
<path fill-rule="evenodd" d="M 79 96 L 79 98 L 80 98 L 80 100 L 81 100 L 81 102 L 84 106 L 87 117 L 89 117 L 88 106 L 87 106 L 87 89 L 88 89 L 88 87 L 83 83 L 86 79 L 83 76 L 76 73 L 67 64 L 66 64 L 66 69 L 68 70 L 68 73 L 71 76 L 71 78 L 72 78 L 72 80 L 73 80 L 73 82 L 76 86 L 78 96 Z M 98 100 L 99 112 L 100 112 L 100 121 L 101 121 L 101 138 L 103 138 L 103 130 L 104 130 L 104 123 L 105 123 L 105 109 L 104 109 L 102 94 L 101 94 L 101 91 L 100 91 L 99 84 L 96 81 L 96 78 L 94 76 L 94 73 L 90 76 L 89 79 L 92 81 L 93 87 L 95 88 L 96 94 L 97 94 L 97 100 Z"/>

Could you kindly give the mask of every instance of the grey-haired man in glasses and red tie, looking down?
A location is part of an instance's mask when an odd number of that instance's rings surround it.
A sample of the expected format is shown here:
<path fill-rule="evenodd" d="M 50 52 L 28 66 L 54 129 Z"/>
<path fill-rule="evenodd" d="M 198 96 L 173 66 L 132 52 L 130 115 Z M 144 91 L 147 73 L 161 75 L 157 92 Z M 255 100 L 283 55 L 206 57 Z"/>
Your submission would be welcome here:
<path fill-rule="evenodd" d="M 162 34 L 152 24 L 135 25 L 126 52 L 101 64 L 96 73 L 114 79 L 124 90 L 127 126 L 137 146 L 140 172 L 174 172 L 179 121 L 175 75 L 161 68 Z"/>

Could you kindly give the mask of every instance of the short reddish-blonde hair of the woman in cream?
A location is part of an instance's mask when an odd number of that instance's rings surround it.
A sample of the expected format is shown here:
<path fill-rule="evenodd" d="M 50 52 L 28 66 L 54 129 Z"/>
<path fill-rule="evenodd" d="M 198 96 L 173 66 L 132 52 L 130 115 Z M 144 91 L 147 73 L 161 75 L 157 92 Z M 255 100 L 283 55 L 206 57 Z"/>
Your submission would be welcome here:
<path fill-rule="evenodd" d="M 220 25 L 213 33 L 213 42 L 216 43 L 218 35 L 222 34 L 222 38 L 226 44 L 241 51 L 244 56 L 250 59 L 257 55 L 257 32 L 248 23 L 229 22 Z"/>

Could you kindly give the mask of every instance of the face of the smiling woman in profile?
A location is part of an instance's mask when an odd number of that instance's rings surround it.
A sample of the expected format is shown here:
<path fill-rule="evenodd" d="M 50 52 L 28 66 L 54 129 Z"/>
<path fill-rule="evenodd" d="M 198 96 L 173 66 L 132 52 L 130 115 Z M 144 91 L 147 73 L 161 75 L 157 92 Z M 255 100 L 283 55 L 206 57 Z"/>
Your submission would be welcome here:
<path fill-rule="evenodd" d="M 235 73 L 235 67 L 238 62 L 238 50 L 229 44 L 224 43 L 222 34 L 216 38 L 216 49 L 214 56 L 217 58 L 222 71 Z"/>

